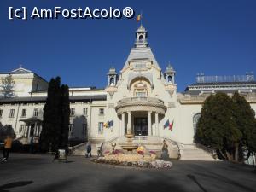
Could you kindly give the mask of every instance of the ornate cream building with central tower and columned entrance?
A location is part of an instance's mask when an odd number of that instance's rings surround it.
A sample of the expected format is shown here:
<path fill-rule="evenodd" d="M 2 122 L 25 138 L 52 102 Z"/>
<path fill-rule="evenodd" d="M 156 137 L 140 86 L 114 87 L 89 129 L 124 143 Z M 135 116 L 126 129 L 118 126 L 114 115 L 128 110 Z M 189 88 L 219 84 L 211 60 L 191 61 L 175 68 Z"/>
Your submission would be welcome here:
<path fill-rule="evenodd" d="M 131 129 L 134 143 L 160 152 L 166 138 L 172 158 L 212 160 L 208 148 L 194 143 L 196 123 L 207 96 L 218 91 L 228 95 L 238 90 L 256 111 L 256 81 L 252 73 L 241 76 L 205 76 L 198 74 L 196 83 L 177 92 L 176 71 L 161 69 L 148 46 L 148 32 L 140 26 L 134 47 L 117 73 L 111 67 L 105 89 L 70 88 L 70 141 L 80 141 L 74 154 L 84 154 L 84 142 L 96 148 L 117 147 L 125 143 L 125 132 Z M 14 96 L 0 99 L 1 126 L 12 127 L 16 139 L 29 143 L 42 129 L 43 108 L 48 82 L 25 68 L 1 73 L 15 81 Z"/>

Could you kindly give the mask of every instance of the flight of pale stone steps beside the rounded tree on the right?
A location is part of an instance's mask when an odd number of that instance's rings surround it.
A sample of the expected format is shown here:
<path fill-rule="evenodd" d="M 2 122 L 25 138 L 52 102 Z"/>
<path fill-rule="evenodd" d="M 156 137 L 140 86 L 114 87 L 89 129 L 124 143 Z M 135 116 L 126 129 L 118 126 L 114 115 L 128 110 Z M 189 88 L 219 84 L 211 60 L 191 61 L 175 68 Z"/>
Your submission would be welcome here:
<path fill-rule="evenodd" d="M 214 161 L 213 152 L 200 144 L 183 144 L 180 160 Z"/>

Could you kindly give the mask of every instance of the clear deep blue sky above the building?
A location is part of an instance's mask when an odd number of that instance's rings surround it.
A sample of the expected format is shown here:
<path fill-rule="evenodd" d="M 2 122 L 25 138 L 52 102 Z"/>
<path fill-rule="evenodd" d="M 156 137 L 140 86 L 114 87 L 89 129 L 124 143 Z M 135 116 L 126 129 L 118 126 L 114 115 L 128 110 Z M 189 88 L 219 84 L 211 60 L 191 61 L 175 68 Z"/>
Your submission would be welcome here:
<path fill-rule="evenodd" d="M 0 72 L 20 64 L 49 80 L 57 75 L 69 86 L 107 84 L 109 67 L 125 64 L 139 24 L 135 18 L 109 20 L 9 20 L 9 7 L 32 9 L 113 8 L 143 10 L 148 43 L 162 70 L 170 61 L 177 88 L 195 75 L 256 73 L 254 0 L 1 0 Z"/>

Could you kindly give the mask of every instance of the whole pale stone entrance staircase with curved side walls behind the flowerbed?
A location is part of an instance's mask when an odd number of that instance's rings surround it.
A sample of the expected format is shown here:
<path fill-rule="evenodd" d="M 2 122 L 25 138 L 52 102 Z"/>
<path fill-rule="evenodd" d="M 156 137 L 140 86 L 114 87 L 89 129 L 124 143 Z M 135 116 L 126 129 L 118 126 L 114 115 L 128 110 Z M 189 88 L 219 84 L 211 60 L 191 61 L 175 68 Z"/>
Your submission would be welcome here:
<path fill-rule="evenodd" d="M 165 137 L 145 137 L 137 136 L 134 137 L 132 143 L 138 146 L 143 146 L 145 152 L 153 151 L 158 158 L 161 157 L 163 140 L 166 139 L 168 145 L 168 153 L 171 159 L 177 160 L 215 160 L 213 158 L 214 153 L 212 149 L 207 148 L 201 144 L 183 144 L 172 141 L 171 139 Z M 92 147 L 91 154 L 97 155 L 98 148 L 102 148 L 102 152 L 112 151 L 112 143 L 116 143 L 115 149 L 122 150 L 122 145 L 126 144 L 125 137 L 115 137 L 108 142 L 103 142 L 102 140 L 91 140 L 90 144 Z M 74 155 L 84 155 L 85 154 L 86 143 L 81 143 L 73 147 Z"/>

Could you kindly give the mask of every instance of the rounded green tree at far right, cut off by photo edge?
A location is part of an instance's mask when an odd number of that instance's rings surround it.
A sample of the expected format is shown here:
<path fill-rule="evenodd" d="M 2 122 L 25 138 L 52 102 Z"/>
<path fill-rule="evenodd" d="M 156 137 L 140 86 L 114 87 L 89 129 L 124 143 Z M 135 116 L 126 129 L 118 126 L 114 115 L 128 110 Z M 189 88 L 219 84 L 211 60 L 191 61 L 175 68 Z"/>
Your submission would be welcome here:
<path fill-rule="evenodd" d="M 256 140 L 254 132 L 256 131 L 255 124 L 255 112 L 251 108 L 247 100 L 240 96 L 236 91 L 232 96 L 232 101 L 234 103 L 234 119 L 236 119 L 236 125 L 241 131 L 242 137 L 239 142 L 239 151 L 236 155 L 236 159 L 239 161 L 246 160 L 250 154 L 253 152 L 253 143 Z M 244 159 L 244 150 L 247 150 L 247 158 Z"/>

